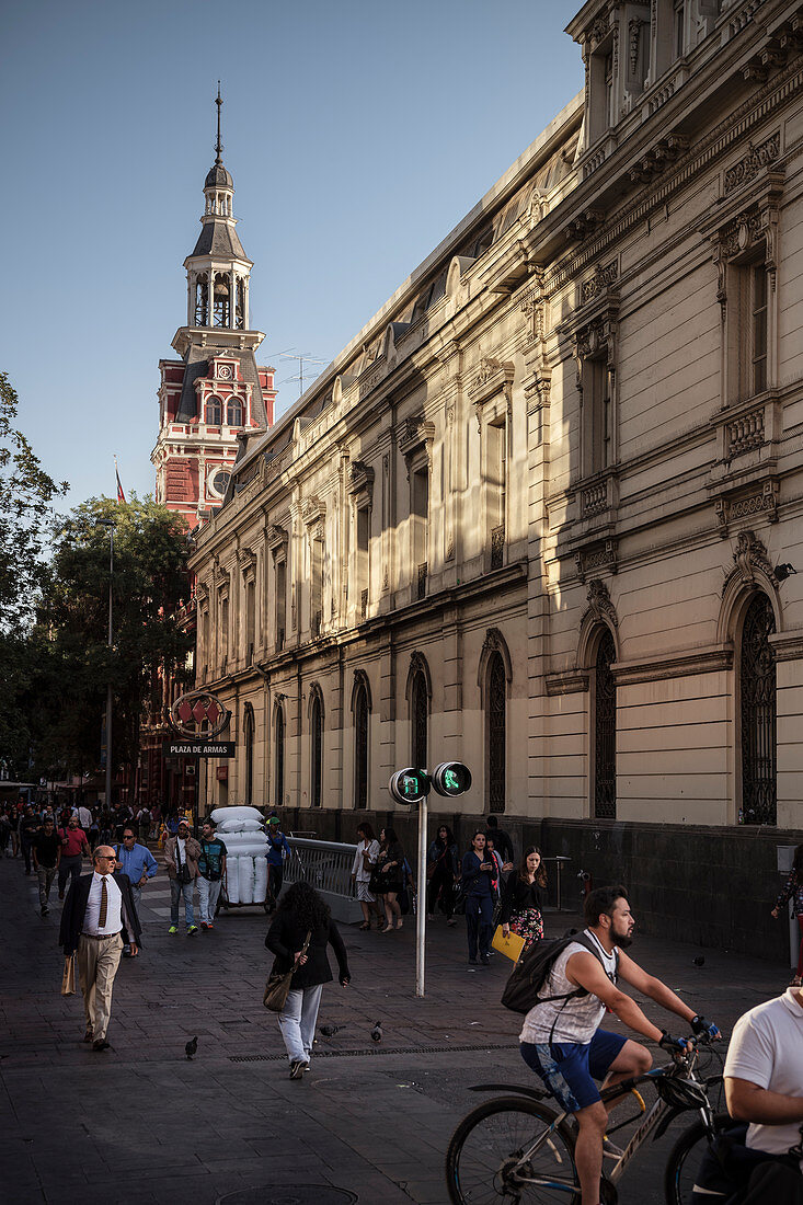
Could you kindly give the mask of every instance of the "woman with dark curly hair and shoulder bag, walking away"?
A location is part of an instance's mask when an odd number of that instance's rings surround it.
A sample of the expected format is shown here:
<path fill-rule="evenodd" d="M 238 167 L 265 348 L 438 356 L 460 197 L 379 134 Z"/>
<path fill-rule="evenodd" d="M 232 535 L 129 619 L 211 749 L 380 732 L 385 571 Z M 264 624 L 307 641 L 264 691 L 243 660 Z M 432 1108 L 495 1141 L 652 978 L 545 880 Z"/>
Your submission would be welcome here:
<path fill-rule="evenodd" d="M 307 934 L 309 945 L 304 954 L 301 950 Z M 295 968 L 287 1001 L 279 1013 L 291 1080 L 300 1080 L 310 1070 L 321 993 L 323 984 L 332 982 L 327 957 L 329 945 L 338 959 L 340 983 L 346 987 L 351 982 L 346 947 L 328 906 L 309 883 L 293 883 L 282 895 L 265 937 L 265 946 L 276 956 L 271 974 L 286 975 Z"/>

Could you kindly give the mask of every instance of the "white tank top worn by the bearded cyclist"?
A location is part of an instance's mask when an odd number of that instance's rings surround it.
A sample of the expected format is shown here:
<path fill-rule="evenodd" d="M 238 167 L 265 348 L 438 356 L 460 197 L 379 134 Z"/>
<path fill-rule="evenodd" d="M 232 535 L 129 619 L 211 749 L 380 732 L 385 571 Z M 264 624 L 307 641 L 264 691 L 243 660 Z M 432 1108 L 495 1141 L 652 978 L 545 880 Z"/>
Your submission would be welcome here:
<path fill-rule="evenodd" d="M 619 957 L 616 946 L 609 954 L 590 929 L 585 930 L 584 937 L 588 937 L 594 944 L 608 978 L 616 982 Z M 576 992 L 576 984 L 567 978 L 565 964 L 573 954 L 587 953 L 587 946 L 573 941 L 556 959 L 544 987 L 538 993 L 543 1003 L 534 1005 L 524 1017 L 524 1024 L 518 1035 L 520 1042 L 544 1044 L 552 1041 L 586 1045 L 591 1041 L 605 1016 L 605 1005 L 602 1000 L 596 995 L 579 995 L 572 1000 L 545 999 L 551 995 L 568 995 L 569 992 Z"/>

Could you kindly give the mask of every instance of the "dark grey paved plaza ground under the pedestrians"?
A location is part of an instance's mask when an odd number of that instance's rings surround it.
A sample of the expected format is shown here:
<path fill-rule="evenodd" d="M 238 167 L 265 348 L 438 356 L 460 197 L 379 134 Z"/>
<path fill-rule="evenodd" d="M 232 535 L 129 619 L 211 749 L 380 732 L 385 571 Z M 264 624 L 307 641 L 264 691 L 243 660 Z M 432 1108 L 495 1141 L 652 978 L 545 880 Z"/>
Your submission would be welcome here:
<path fill-rule="evenodd" d="M 262 1006 L 270 964 L 262 909 L 222 913 L 209 934 L 187 937 L 182 925 L 169 936 L 162 869 L 143 893 L 142 954 L 123 960 L 115 983 L 113 1050 L 93 1053 L 81 1041 L 80 995 L 59 994 L 60 905 L 51 904 L 41 918 L 22 860 L 0 860 L 5 1205 L 206 1205 L 238 1192 L 265 1205 L 444 1205 L 449 1138 L 480 1099 L 468 1086 L 531 1078 L 518 1018 L 499 1005 L 510 964 L 497 954 L 488 968 L 469 966 L 462 922 L 447 929 L 438 918 L 418 1000 L 410 917 L 388 936 L 344 929 L 352 984 L 328 984 L 320 1016 L 340 1030 L 318 1035 L 311 1074 L 291 1081 L 276 1019 Z M 547 935 L 572 921 L 547 916 Z M 698 969 L 697 948 L 655 937 L 637 939 L 631 953 L 727 1033 L 789 977 L 784 966 L 715 951 Z M 651 1003 L 646 1011 L 668 1024 Z M 379 1047 L 370 1040 L 377 1019 Z M 187 1062 L 193 1035 L 198 1054 Z M 639 1153 L 621 1205 L 663 1199 L 670 1141 Z M 248 1198 L 250 1188 L 262 1192 Z"/>

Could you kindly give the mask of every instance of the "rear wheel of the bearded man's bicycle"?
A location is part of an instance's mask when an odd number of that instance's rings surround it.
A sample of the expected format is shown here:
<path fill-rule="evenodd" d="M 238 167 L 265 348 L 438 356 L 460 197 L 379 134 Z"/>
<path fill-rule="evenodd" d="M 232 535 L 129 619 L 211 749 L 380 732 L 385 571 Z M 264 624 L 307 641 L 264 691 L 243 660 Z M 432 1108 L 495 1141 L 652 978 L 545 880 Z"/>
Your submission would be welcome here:
<path fill-rule="evenodd" d="M 527 1097 L 486 1100 L 464 1117 L 446 1152 L 453 1205 L 580 1205 L 574 1134 Z"/>

